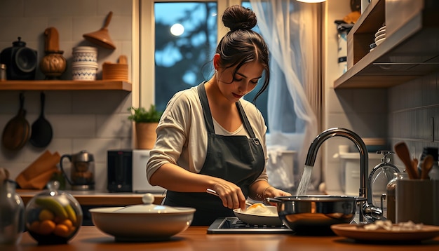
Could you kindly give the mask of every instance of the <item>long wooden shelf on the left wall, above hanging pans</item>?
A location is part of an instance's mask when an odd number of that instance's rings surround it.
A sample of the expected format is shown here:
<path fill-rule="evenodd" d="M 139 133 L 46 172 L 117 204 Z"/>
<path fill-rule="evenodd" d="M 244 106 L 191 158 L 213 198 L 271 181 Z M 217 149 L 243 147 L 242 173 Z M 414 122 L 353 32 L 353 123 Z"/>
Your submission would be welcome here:
<path fill-rule="evenodd" d="M 72 81 L 72 80 L 11 80 L 0 81 L 0 90 L 132 90 L 126 81 Z"/>

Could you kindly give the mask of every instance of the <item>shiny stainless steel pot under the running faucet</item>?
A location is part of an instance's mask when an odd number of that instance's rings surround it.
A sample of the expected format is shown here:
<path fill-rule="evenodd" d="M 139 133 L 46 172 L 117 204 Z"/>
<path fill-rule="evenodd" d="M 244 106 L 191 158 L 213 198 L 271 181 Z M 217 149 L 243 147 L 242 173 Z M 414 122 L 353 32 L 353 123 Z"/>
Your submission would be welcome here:
<path fill-rule="evenodd" d="M 366 198 L 352 196 L 283 196 L 266 198 L 276 203 L 283 224 L 297 234 L 334 234 L 332 224 L 350 223 L 355 217 L 357 203 Z"/>

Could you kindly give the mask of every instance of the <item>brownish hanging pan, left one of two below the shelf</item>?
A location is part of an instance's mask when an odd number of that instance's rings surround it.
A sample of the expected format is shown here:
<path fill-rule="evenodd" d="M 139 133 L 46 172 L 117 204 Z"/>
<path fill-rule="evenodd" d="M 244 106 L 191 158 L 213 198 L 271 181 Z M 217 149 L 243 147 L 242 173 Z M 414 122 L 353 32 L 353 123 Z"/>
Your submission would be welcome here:
<path fill-rule="evenodd" d="M 20 93 L 20 109 L 18 114 L 11 119 L 3 130 L 2 143 L 8 150 L 21 149 L 29 139 L 29 122 L 27 122 L 26 110 L 23 109 L 25 103 L 25 95 Z"/>

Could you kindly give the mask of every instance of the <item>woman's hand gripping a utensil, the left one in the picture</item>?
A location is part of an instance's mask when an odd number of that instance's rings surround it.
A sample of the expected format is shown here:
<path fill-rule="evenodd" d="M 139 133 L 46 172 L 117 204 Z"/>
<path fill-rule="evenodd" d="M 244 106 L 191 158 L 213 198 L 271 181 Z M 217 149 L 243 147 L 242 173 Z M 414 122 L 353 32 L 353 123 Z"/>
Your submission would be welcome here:
<path fill-rule="evenodd" d="M 236 184 L 227 182 L 224 179 L 219 179 L 219 181 L 213 185 L 212 189 L 217 192 L 217 196 L 221 198 L 224 207 L 230 209 L 245 209 L 245 197 L 243 191 L 241 191 L 241 188 L 236 186 Z"/>

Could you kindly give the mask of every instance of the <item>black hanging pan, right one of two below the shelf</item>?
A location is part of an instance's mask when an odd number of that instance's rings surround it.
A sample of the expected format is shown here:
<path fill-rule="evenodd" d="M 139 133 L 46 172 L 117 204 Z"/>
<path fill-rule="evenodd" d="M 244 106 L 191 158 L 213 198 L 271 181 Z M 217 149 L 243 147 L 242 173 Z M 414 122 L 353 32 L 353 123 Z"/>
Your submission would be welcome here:
<path fill-rule="evenodd" d="M 53 131 L 52 126 L 50 126 L 49 121 L 44 118 L 44 100 L 45 95 L 41 93 L 41 114 L 39 118 L 32 123 L 32 134 L 30 136 L 29 142 L 34 147 L 46 147 L 52 140 Z"/>

